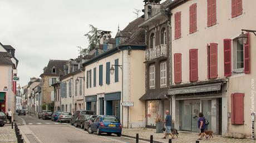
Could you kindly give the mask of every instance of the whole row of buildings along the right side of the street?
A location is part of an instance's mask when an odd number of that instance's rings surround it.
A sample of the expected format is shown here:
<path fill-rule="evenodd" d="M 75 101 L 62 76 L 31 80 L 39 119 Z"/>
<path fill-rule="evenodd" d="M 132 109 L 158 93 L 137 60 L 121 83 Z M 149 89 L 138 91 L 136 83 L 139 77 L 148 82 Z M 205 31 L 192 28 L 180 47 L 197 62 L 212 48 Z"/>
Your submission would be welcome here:
<path fill-rule="evenodd" d="M 115 38 L 102 31 L 85 57 L 50 60 L 41 74 L 41 101 L 54 101 L 54 110 L 116 115 L 124 127 L 155 127 L 170 110 L 176 129 L 195 132 L 203 112 L 216 134 L 249 136 L 255 5 L 145 0 L 142 17 Z"/>

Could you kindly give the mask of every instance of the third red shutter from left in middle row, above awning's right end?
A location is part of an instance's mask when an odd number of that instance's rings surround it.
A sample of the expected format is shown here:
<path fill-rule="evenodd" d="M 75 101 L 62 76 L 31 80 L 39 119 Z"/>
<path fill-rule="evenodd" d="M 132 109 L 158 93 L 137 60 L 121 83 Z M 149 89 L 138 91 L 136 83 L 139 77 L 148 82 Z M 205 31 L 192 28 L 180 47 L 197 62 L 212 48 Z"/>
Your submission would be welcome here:
<path fill-rule="evenodd" d="M 210 79 L 218 78 L 218 44 L 210 43 Z"/>

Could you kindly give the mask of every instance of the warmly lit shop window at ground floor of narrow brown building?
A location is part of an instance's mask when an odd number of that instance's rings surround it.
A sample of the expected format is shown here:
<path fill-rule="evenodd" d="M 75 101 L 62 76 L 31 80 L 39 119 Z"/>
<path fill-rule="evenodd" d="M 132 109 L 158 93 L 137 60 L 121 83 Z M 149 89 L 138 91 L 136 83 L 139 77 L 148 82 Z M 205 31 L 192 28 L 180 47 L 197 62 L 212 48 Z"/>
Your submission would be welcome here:
<path fill-rule="evenodd" d="M 160 118 L 160 101 L 147 101 L 147 125 L 155 126 L 157 118 Z"/>

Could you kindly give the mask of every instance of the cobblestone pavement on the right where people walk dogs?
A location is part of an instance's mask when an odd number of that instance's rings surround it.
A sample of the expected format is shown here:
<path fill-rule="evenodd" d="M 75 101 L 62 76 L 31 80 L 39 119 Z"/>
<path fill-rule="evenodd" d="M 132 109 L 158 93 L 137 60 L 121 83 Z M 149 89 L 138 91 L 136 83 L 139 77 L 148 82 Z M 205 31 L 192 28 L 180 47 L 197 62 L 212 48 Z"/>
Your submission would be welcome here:
<path fill-rule="evenodd" d="M 178 138 L 175 136 L 175 139 L 172 140 L 172 142 L 193 142 L 198 139 L 198 133 L 196 132 L 185 132 L 185 131 L 178 131 L 179 135 Z M 164 133 L 156 133 L 156 129 L 148 129 L 148 128 L 134 128 L 134 129 L 122 129 L 123 135 L 129 135 L 129 136 L 136 136 L 136 134 L 139 133 L 139 137 L 144 139 L 150 139 L 150 135 L 153 135 L 154 140 L 159 142 L 168 142 L 169 139 L 161 139 L 164 137 Z M 220 135 L 213 135 L 213 139 L 203 139 L 200 140 L 200 142 L 256 142 L 256 141 L 250 141 L 249 139 L 230 139 L 227 137 L 221 137 Z"/>

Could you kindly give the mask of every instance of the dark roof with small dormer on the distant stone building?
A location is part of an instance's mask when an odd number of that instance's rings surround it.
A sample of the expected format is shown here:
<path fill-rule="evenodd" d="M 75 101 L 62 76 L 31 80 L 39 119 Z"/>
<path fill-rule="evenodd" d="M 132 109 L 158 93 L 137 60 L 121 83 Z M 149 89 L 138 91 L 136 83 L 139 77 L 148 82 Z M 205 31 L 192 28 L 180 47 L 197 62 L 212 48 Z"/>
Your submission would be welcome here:
<path fill-rule="evenodd" d="M 45 69 L 45 71 L 40 75 L 63 75 L 63 65 L 66 65 L 66 63 L 69 60 L 53 60 L 50 59 L 48 62 L 48 65 Z M 55 67 L 56 68 L 56 74 L 52 73 L 52 68 Z"/>

